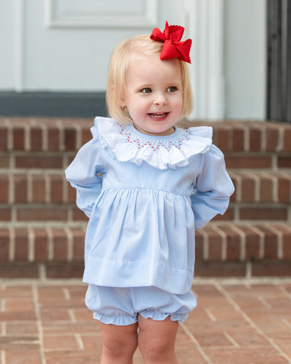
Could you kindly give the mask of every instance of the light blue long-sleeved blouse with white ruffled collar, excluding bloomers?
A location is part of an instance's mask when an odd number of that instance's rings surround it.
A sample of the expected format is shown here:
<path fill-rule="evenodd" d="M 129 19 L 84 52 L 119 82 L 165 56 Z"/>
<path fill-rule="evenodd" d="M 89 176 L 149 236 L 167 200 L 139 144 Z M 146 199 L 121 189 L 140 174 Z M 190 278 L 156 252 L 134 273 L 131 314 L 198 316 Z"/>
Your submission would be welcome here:
<path fill-rule="evenodd" d="M 176 127 L 155 137 L 95 118 L 91 132 L 66 169 L 77 205 L 90 217 L 83 280 L 187 293 L 194 230 L 224 214 L 234 192 L 212 128 Z"/>

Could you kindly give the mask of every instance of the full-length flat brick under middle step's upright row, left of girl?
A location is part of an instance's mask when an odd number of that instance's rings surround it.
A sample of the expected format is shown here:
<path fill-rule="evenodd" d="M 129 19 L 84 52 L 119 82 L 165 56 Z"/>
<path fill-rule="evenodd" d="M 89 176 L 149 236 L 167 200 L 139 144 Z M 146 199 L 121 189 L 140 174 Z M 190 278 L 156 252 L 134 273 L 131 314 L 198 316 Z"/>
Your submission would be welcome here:
<path fill-rule="evenodd" d="M 68 213 L 66 209 L 57 207 L 18 207 L 17 221 L 66 221 Z"/>

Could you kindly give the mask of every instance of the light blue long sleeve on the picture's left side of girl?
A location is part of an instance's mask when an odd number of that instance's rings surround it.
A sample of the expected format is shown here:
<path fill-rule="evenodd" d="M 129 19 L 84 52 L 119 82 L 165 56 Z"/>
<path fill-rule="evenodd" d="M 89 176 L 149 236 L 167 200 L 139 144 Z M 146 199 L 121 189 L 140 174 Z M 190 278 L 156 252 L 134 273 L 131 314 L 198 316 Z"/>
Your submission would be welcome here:
<path fill-rule="evenodd" d="M 99 141 L 92 139 L 80 148 L 65 171 L 66 179 L 76 188 L 76 204 L 88 217 L 102 187 L 102 179 L 97 176 L 102 172 L 100 151 Z"/>

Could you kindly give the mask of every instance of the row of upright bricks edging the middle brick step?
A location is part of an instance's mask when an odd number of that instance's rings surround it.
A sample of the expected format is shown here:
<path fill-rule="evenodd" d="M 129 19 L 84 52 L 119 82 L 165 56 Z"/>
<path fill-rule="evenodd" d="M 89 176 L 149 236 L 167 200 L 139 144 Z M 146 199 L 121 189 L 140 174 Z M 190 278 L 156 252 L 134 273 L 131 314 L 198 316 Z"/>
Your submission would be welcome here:
<path fill-rule="evenodd" d="M 231 202 L 290 203 L 291 169 L 229 171 L 236 191 Z M 0 169 L 0 204 L 73 204 L 76 192 L 64 171 L 11 172 Z"/>

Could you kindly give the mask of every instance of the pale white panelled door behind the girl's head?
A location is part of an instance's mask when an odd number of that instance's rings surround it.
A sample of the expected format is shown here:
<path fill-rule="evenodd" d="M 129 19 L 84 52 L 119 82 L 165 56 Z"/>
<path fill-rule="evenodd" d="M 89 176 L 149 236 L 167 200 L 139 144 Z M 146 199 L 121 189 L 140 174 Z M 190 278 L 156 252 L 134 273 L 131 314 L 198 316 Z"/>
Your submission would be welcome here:
<path fill-rule="evenodd" d="M 0 91 L 105 91 L 115 45 L 185 25 L 188 1 L 1 0 Z"/>

